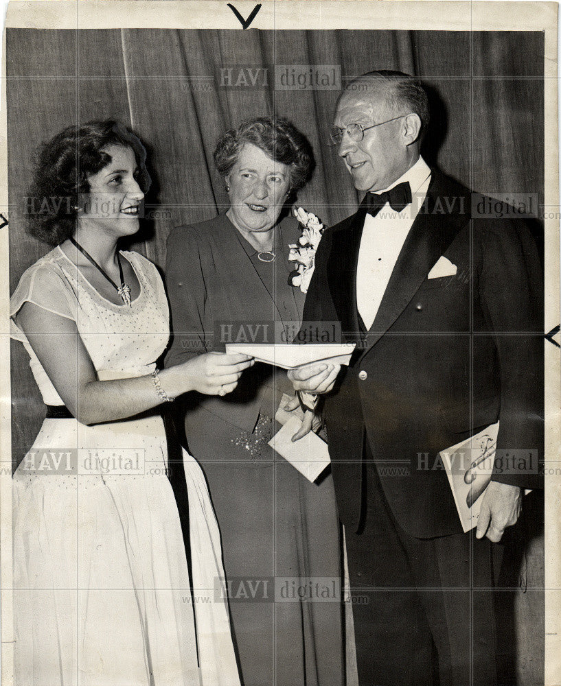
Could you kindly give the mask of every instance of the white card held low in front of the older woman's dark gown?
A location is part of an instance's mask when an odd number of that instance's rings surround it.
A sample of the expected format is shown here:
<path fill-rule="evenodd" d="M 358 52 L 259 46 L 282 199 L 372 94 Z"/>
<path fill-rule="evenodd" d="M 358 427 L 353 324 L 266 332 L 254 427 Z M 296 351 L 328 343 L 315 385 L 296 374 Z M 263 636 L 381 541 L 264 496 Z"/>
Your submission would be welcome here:
<path fill-rule="evenodd" d="M 293 443 L 292 437 L 301 425 L 298 417 L 290 417 L 268 445 L 288 460 L 306 479 L 314 482 L 331 462 L 328 444 L 313 431 Z"/>

